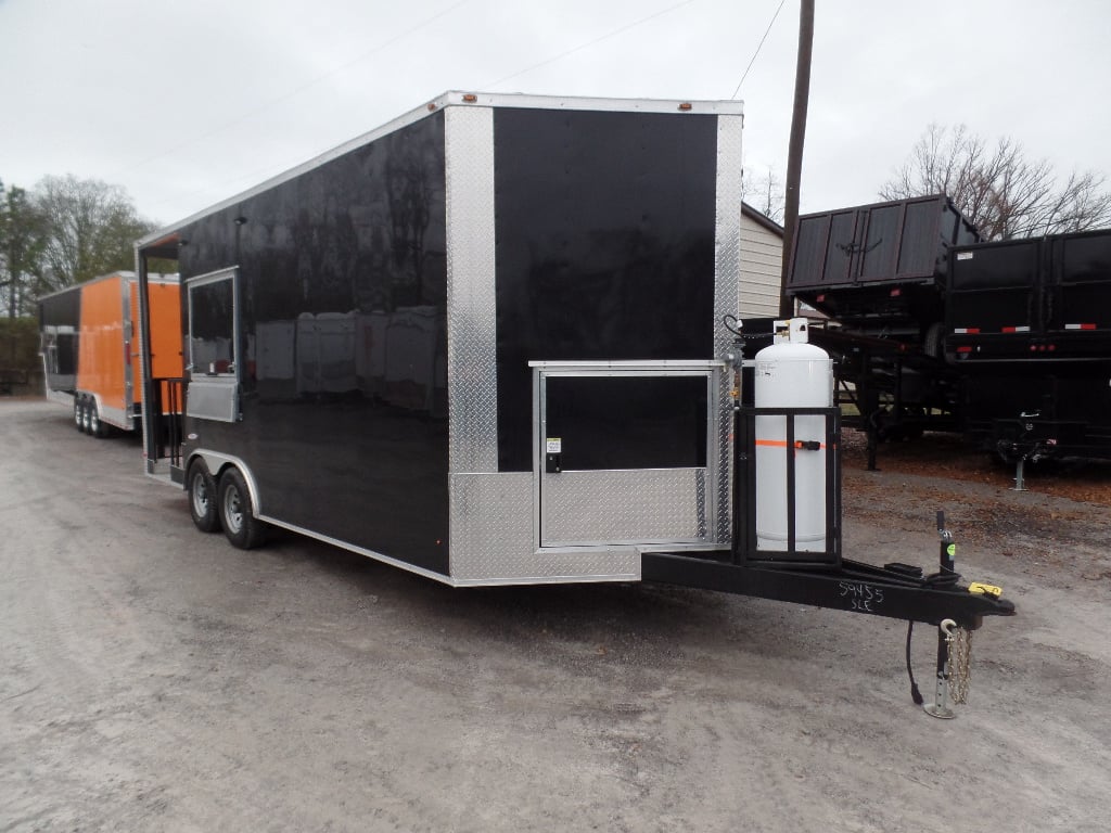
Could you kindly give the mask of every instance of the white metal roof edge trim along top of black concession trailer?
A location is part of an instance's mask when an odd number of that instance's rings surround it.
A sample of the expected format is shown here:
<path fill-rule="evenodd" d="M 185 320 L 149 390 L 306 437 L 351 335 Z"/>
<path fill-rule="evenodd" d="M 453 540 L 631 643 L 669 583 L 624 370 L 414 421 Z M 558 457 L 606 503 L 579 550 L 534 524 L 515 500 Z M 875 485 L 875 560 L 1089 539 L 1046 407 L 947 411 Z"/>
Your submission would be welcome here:
<path fill-rule="evenodd" d="M 320 165 L 337 159 L 344 153 L 361 148 L 364 144 L 379 139 L 388 133 L 392 133 L 396 130 L 400 130 L 413 122 L 421 119 L 428 118 L 432 113 L 442 110 L 446 107 L 496 107 L 496 108 L 534 108 L 539 110 L 598 110 L 598 111 L 613 111 L 613 112 L 648 112 L 648 113 L 668 113 L 668 112 L 680 112 L 680 113 L 701 113 L 701 114 L 715 114 L 715 116 L 743 116 L 744 114 L 744 103 L 742 101 L 734 100 L 722 100 L 722 101 L 711 101 L 711 100 L 680 100 L 680 99 L 625 99 L 625 98 L 593 98 L 593 97 L 575 97 L 575 96 L 533 96 L 530 93 L 510 92 L 510 93 L 484 93 L 484 92 L 463 92 L 459 90 L 451 90 L 442 93 L 433 99 L 428 100 L 420 107 L 416 107 L 412 110 L 402 113 L 401 116 L 392 119 L 391 121 L 381 124 L 373 130 L 370 130 L 361 136 L 350 139 L 342 144 L 339 144 L 331 150 L 324 151 L 320 155 L 313 157 L 307 162 L 302 162 L 294 168 L 290 168 L 282 173 L 271 177 L 263 182 L 260 182 L 252 188 L 242 191 L 241 193 L 229 197 L 228 199 L 221 200 L 220 202 L 210 205 L 209 208 L 201 209 L 188 217 L 174 222 L 169 225 L 163 225 L 157 231 L 147 234 L 136 241 L 136 249 L 144 250 L 157 247 L 163 242 L 170 242 L 172 238 L 176 237 L 176 232 L 180 231 L 183 227 L 189 225 L 197 220 L 200 220 L 209 214 L 216 213 L 217 211 L 222 211 L 238 202 L 248 200 L 256 197 L 264 191 L 270 190 L 283 182 L 288 182 L 291 179 L 300 177 L 302 173 L 308 173 L 309 171 L 319 168 Z"/>

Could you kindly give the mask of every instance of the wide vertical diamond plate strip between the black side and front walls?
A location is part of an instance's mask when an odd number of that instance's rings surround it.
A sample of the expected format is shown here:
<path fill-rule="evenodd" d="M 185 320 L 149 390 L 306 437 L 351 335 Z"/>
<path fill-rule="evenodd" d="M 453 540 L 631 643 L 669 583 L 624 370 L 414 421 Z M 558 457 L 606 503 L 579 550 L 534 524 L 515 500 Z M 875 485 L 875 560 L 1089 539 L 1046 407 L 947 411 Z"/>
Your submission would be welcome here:
<path fill-rule="evenodd" d="M 444 130 L 449 464 L 453 473 L 496 472 L 493 110 L 448 108 Z"/>

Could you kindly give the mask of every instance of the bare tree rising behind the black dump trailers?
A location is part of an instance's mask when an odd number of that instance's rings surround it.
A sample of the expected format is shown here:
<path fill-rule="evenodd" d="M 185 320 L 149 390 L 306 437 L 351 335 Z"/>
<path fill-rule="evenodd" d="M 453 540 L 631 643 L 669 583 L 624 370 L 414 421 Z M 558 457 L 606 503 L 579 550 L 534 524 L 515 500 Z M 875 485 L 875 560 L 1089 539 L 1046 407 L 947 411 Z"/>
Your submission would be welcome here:
<path fill-rule="evenodd" d="M 987 240 L 1085 231 L 1111 224 L 1107 177 L 1073 171 L 1062 180 L 1048 160 L 1030 160 L 1002 138 L 994 147 L 964 124 L 931 124 L 880 197 L 947 193 Z"/>

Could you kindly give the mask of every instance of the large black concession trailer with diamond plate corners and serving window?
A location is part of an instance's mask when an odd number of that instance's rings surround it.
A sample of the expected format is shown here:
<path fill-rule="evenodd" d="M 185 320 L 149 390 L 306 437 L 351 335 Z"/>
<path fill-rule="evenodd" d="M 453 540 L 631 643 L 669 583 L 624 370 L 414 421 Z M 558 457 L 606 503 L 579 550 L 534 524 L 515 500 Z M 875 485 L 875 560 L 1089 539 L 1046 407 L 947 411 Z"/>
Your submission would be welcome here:
<path fill-rule="evenodd" d="M 187 368 L 147 472 L 238 546 L 274 525 L 456 586 L 1013 612 L 951 570 L 843 561 L 832 403 L 740 407 L 741 123 L 738 102 L 452 92 L 151 234 L 138 270 L 177 260 Z M 770 413 L 785 488 L 761 543 Z"/>

